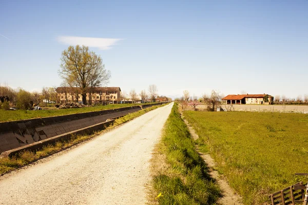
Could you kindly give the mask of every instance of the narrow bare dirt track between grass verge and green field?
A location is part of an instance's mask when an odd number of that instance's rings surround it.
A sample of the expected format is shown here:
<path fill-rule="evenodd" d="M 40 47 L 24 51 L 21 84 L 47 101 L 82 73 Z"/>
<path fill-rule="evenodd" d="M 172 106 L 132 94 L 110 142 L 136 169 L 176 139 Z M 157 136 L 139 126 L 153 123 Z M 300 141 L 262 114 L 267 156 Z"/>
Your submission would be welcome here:
<path fill-rule="evenodd" d="M 188 121 L 186 119 L 184 119 L 189 132 L 192 136 L 192 138 L 194 138 L 194 140 L 198 139 L 199 136 L 197 135 L 197 133 L 195 132 L 194 128 L 192 128 L 189 124 Z M 218 173 L 218 171 L 214 170 L 215 168 L 215 161 L 213 158 L 211 158 L 211 156 L 209 154 L 202 154 L 199 153 L 200 156 L 203 158 L 203 160 L 206 162 L 206 164 L 208 165 L 209 168 L 209 175 L 216 179 L 221 191 L 222 191 L 222 197 L 220 197 L 218 199 L 218 204 L 222 204 L 222 205 L 242 205 L 243 203 L 241 203 L 241 197 L 239 195 L 237 195 L 236 193 L 234 193 L 233 189 L 230 188 L 230 186 L 228 185 L 227 180 Z"/>

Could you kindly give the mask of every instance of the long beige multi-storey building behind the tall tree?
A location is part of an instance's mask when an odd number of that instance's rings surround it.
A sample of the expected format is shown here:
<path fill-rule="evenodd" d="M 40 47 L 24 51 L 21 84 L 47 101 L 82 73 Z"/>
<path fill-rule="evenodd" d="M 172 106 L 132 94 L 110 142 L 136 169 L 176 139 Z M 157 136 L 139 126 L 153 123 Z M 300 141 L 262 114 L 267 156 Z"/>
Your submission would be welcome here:
<path fill-rule="evenodd" d="M 82 102 L 82 95 L 78 88 L 57 87 L 55 91 L 58 99 L 60 99 L 60 103 L 67 103 L 70 101 Z M 119 104 L 120 93 L 120 87 L 97 87 L 94 88 L 91 96 L 87 93 L 87 101 L 91 101 L 92 104 Z"/>

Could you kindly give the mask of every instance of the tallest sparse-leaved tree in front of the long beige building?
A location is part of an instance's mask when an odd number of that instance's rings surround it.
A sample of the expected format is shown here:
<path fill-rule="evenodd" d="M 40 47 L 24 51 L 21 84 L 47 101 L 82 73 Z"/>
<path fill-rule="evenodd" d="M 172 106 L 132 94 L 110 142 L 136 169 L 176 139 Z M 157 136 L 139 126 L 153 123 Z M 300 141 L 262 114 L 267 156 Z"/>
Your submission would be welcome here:
<path fill-rule="evenodd" d="M 94 87 L 109 83 L 110 71 L 102 63 L 101 56 L 89 51 L 87 46 L 69 46 L 62 52 L 59 75 L 80 89 L 82 101 L 87 104 L 87 93 Z"/>

